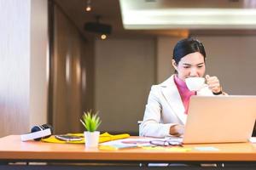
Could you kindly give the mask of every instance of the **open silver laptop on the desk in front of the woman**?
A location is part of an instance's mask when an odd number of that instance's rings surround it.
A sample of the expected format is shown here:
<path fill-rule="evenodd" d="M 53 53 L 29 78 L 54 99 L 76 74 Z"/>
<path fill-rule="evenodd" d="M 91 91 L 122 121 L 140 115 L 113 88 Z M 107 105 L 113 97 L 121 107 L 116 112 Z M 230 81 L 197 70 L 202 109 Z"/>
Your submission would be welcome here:
<path fill-rule="evenodd" d="M 193 96 L 183 144 L 247 142 L 256 118 L 256 96 Z"/>

